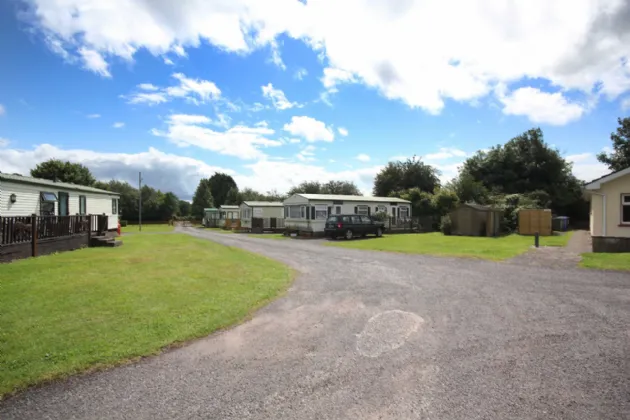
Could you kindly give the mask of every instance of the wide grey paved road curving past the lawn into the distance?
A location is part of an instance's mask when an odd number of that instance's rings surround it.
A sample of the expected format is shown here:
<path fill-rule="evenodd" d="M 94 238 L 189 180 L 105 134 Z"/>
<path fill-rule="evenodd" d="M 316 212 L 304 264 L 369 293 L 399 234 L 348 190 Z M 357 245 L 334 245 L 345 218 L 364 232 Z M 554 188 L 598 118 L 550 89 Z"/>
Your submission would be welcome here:
<path fill-rule="evenodd" d="M 187 231 L 303 274 L 249 322 L 1 419 L 629 418 L 628 274 Z"/>

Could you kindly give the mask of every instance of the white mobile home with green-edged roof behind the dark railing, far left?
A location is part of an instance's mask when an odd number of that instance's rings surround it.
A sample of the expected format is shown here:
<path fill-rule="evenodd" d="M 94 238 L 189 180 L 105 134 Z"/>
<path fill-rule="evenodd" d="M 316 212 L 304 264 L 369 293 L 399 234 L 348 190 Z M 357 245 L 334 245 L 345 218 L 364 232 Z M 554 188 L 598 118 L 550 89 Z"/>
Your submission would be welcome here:
<path fill-rule="evenodd" d="M 120 194 L 84 185 L 0 173 L 0 217 L 106 214 L 118 227 Z"/>

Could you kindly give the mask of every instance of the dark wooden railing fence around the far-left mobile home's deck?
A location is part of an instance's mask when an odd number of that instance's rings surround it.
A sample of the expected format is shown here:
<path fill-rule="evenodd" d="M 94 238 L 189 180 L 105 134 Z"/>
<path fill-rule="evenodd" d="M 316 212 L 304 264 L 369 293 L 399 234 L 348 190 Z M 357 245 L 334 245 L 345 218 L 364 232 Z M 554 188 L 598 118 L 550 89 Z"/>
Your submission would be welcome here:
<path fill-rule="evenodd" d="M 106 215 L 0 217 L 0 262 L 87 246 L 107 231 Z"/>

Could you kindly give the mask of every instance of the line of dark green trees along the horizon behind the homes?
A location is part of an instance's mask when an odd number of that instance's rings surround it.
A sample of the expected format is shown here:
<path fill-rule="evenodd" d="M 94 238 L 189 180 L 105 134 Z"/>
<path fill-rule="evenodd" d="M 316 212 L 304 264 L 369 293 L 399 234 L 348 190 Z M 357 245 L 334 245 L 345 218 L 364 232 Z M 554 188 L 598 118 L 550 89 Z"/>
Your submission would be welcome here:
<path fill-rule="evenodd" d="M 630 117 L 619 118 L 619 127 L 611 134 L 612 149 L 597 159 L 611 171 L 630 167 Z M 142 195 L 142 218 L 164 221 L 175 216 L 203 217 L 203 209 L 224 204 L 240 205 L 243 201 L 283 201 L 296 193 L 362 195 L 353 182 L 305 181 L 286 194 L 276 190 L 266 193 L 251 188 L 239 189 L 225 173 L 215 173 L 199 181 L 192 203 L 172 192 L 150 186 L 141 191 L 131 184 L 112 180 L 97 181 L 84 165 L 57 159 L 40 163 L 31 176 L 58 180 L 114 191 L 120 194 L 122 218 L 138 220 L 138 197 Z M 412 157 L 389 162 L 375 177 L 375 196 L 400 197 L 411 201 L 416 216 L 439 218 L 458 203 L 493 205 L 505 209 L 508 229 L 516 223 L 522 207 L 550 208 L 556 214 L 573 220 L 588 219 L 588 203 L 583 197 L 584 182 L 572 173 L 571 163 L 559 150 L 548 145 L 540 128 L 530 129 L 503 145 L 478 151 L 466 159 L 458 176 L 442 185 L 437 168 Z"/>

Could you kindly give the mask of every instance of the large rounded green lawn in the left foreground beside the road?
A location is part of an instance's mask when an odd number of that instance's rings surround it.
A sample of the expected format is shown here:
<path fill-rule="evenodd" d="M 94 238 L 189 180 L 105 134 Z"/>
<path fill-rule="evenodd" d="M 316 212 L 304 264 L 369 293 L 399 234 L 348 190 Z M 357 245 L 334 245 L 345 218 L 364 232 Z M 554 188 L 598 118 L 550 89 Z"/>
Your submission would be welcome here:
<path fill-rule="evenodd" d="M 0 399 L 238 323 L 293 278 L 283 264 L 187 235 L 124 242 L 0 265 Z"/>

